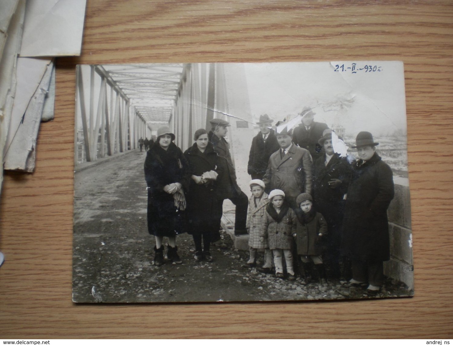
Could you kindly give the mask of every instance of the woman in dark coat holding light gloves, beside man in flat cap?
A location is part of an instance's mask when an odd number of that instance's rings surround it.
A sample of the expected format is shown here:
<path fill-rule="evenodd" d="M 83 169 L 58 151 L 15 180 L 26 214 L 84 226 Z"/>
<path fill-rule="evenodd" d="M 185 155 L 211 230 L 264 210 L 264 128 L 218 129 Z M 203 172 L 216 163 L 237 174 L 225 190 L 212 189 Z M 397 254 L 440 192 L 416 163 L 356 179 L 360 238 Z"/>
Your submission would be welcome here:
<path fill-rule="evenodd" d="M 218 232 L 222 213 L 219 214 L 217 175 L 221 172 L 217 153 L 209 142 L 207 132 L 201 128 L 195 132 L 195 143 L 185 152 L 192 178 L 187 194 L 188 230 L 195 242 L 195 260 L 211 262 L 210 243 Z M 222 197 L 220 197 L 223 200 Z"/>

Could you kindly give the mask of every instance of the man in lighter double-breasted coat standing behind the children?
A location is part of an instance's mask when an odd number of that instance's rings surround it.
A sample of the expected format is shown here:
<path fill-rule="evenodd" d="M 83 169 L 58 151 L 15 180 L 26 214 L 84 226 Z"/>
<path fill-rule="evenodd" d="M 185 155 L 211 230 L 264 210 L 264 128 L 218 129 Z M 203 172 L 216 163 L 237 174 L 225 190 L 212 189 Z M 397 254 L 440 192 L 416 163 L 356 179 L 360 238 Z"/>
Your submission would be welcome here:
<path fill-rule="evenodd" d="M 276 132 L 280 149 L 269 157 L 263 178 L 266 190 L 281 189 L 291 208 L 297 209 L 296 198 L 312 192 L 313 162 L 310 152 L 292 142 L 292 132 L 283 126 Z"/>

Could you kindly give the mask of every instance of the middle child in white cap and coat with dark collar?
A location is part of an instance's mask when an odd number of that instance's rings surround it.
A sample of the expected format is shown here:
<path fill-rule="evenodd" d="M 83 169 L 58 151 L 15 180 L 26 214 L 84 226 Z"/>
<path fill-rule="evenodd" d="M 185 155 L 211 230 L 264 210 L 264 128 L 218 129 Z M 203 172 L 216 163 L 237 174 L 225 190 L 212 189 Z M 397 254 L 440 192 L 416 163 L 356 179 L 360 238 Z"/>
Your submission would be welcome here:
<path fill-rule="evenodd" d="M 270 203 L 266 207 L 264 226 L 261 229 L 261 241 L 266 240 L 274 254 L 275 276 L 284 279 L 283 260 L 286 261 L 288 280 L 295 280 L 293 269 L 292 237 L 296 231 L 297 218 L 284 200 L 284 192 L 281 189 L 273 189 L 269 193 Z"/>

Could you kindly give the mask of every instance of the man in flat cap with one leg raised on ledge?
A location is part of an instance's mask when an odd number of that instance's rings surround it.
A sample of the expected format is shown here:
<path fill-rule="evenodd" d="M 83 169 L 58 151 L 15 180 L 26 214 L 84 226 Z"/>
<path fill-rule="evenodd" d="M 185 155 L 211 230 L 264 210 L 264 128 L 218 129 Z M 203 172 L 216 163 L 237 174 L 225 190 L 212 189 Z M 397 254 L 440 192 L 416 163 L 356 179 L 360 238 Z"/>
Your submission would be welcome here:
<path fill-rule="evenodd" d="M 213 118 L 209 122 L 212 126 L 211 131 L 208 133 L 209 141 L 212 143 L 214 151 L 221 157 L 220 162 L 223 170 L 223 174 L 221 174 L 222 177 L 220 181 L 218 181 L 219 212 L 222 212 L 223 200 L 230 199 L 231 202 L 236 205 L 234 234 L 236 236 L 246 235 L 247 207 L 249 200 L 246 194 L 244 194 L 237 185 L 236 170 L 231 159 L 230 145 L 225 140 L 226 133 L 228 132 L 227 127 L 230 126 L 230 123 L 221 118 Z M 220 241 L 220 234 L 218 234 L 218 236 L 217 234 L 217 238 L 212 240 L 214 244 Z"/>

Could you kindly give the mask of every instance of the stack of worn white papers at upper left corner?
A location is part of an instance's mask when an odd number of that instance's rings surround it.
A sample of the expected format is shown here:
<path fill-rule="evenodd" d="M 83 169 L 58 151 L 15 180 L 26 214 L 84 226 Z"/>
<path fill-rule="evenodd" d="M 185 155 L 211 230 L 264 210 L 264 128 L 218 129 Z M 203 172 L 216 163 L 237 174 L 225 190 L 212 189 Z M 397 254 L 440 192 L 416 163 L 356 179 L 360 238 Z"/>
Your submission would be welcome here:
<path fill-rule="evenodd" d="M 53 57 L 80 55 L 86 0 L 0 2 L 0 161 L 32 172 L 41 120 L 53 119 Z M 3 170 L 0 171 L 0 188 Z"/>

